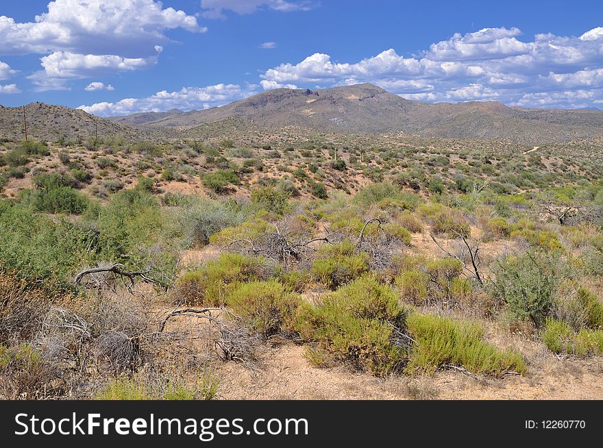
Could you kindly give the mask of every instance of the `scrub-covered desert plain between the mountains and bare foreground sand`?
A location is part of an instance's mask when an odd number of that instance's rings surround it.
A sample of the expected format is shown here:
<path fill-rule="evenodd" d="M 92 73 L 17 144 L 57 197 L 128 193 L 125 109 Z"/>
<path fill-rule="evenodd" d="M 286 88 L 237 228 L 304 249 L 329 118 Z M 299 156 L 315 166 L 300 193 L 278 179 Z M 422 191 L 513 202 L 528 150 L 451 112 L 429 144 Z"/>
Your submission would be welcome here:
<path fill-rule="evenodd" d="M 338 138 L 3 142 L 0 396 L 232 397 L 297 349 L 410 398 L 601 365 L 598 147 Z"/>

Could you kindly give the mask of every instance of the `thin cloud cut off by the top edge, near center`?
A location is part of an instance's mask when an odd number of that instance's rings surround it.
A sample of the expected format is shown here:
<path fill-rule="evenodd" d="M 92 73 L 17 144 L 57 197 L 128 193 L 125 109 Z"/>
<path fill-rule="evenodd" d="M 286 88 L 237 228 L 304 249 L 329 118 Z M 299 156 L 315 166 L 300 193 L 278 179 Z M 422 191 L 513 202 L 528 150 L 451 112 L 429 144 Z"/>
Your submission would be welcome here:
<path fill-rule="evenodd" d="M 207 18 L 224 18 L 225 10 L 237 14 L 252 14 L 260 8 L 282 12 L 307 11 L 315 8 L 316 3 L 308 0 L 201 0 L 201 8 Z"/>

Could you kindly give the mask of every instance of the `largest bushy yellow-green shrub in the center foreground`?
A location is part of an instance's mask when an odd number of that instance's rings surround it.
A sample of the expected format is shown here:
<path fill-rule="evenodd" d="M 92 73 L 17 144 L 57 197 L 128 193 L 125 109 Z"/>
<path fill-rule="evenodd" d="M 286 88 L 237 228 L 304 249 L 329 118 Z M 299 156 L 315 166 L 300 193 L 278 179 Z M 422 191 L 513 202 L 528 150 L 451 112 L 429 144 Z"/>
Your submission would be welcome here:
<path fill-rule="evenodd" d="M 320 306 L 302 306 L 296 329 L 336 360 L 382 376 L 404 366 L 405 318 L 392 288 L 365 276 L 327 295 Z"/>

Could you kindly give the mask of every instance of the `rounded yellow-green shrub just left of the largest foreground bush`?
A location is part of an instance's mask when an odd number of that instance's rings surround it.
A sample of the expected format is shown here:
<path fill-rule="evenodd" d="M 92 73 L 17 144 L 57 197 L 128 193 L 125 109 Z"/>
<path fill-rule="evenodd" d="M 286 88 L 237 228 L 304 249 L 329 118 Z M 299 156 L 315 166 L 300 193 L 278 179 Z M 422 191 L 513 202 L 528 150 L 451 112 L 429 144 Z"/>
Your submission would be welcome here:
<path fill-rule="evenodd" d="M 293 316 L 300 299 L 289 293 L 279 282 L 242 283 L 227 298 L 232 312 L 264 337 L 293 334 Z"/>

